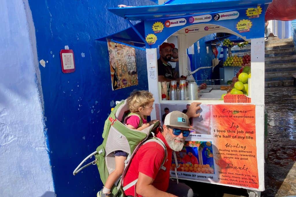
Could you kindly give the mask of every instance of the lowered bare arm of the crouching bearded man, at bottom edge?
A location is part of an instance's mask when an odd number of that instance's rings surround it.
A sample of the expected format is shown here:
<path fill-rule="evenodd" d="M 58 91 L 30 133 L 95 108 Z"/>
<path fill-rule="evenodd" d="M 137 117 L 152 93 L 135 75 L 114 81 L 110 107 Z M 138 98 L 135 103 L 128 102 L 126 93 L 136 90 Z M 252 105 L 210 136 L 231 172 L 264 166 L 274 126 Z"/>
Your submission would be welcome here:
<path fill-rule="evenodd" d="M 155 196 L 162 196 L 162 197 L 176 197 L 173 194 L 160 191 L 159 189 L 155 188 L 152 183 L 153 179 L 141 172 L 139 172 L 138 182 L 136 186 L 136 193 L 142 195 L 143 197 L 155 197 Z"/>

